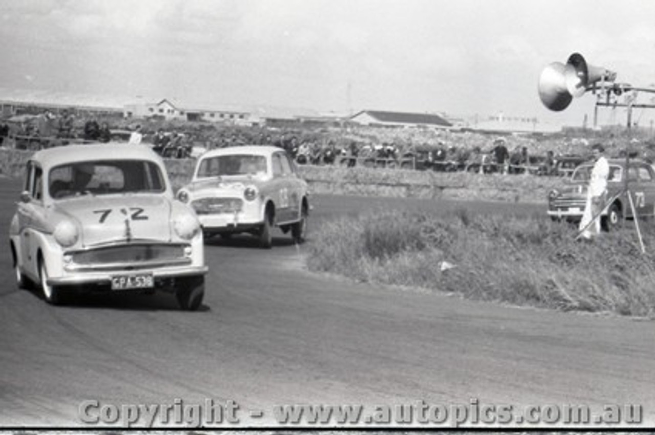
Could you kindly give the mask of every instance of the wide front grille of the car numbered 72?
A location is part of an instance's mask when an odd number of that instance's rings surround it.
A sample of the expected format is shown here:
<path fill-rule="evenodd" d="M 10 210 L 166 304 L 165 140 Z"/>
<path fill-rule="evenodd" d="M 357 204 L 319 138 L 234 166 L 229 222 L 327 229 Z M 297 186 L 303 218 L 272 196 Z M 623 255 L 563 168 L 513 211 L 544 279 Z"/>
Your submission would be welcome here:
<path fill-rule="evenodd" d="M 75 265 L 114 265 L 139 263 L 166 263 L 185 259 L 183 244 L 128 244 L 105 246 L 72 253 Z"/>

